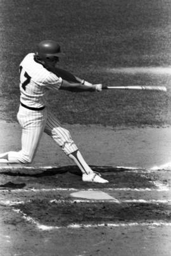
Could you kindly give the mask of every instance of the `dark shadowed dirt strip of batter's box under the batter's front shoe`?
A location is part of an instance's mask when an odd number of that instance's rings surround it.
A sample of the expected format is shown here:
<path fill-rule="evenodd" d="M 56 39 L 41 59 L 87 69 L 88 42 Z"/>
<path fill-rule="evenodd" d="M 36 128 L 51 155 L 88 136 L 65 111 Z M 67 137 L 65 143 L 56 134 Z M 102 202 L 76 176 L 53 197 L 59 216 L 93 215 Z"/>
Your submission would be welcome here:
<path fill-rule="evenodd" d="M 141 175 L 140 172 L 131 172 L 130 169 L 117 168 L 111 166 L 91 165 L 91 169 L 99 172 L 102 176 L 110 181 L 105 184 L 106 188 L 151 188 L 155 185 L 151 182 L 151 178 Z M 129 170 L 127 172 L 127 170 Z M 41 169 L 39 167 L 18 167 L 15 169 L 2 169 L 0 171 L 1 184 L 0 189 L 16 189 L 23 188 L 101 188 L 104 184 L 94 182 L 83 182 L 82 172 L 75 165 L 64 167 L 47 167 Z M 88 184 L 91 183 L 91 184 Z"/>

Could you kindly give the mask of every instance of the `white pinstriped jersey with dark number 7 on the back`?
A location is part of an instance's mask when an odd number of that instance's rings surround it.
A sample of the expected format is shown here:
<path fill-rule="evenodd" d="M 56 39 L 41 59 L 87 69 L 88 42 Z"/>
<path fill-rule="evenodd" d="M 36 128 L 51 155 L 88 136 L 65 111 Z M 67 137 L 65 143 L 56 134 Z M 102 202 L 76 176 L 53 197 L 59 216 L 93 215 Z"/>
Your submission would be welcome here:
<path fill-rule="evenodd" d="M 35 61 L 34 56 L 34 53 L 28 53 L 20 63 L 20 101 L 27 106 L 41 108 L 46 105 L 49 89 L 58 91 L 62 79 Z"/>

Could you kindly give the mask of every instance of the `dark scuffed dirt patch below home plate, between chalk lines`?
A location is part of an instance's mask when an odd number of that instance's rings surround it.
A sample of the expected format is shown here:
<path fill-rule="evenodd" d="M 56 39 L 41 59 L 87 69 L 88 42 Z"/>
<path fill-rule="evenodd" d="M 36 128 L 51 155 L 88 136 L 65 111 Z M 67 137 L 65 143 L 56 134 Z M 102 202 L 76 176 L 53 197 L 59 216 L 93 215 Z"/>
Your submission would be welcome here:
<path fill-rule="evenodd" d="M 59 198 L 60 199 L 60 198 Z M 101 224 L 112 222 L 171 221 L 171 206 L 149 203 L 50 203 L 34 200 L 20 205 L 23 214 L 46 226 Z M 18 208 L 18 207 L 16 207 Z"/>

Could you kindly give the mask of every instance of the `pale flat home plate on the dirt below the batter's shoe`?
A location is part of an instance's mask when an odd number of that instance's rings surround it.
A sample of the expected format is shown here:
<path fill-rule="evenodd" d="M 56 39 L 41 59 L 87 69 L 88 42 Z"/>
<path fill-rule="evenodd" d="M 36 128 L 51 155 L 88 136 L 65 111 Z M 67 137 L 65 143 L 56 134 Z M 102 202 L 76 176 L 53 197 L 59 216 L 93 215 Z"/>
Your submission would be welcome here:
<path fill-rule="evenodd" d="M 103 191 L 86 191 L 86 190 L 80 190 L 75 193 L 70 194 L 73 197 L 79 197 L 79 198 L 86 198 L 86 199 L 92 199 L 92 200 L 113 200 L 118 202 L 117 199 L 115 199 L 113 196 L 108 195 L 107 193 Z"/>

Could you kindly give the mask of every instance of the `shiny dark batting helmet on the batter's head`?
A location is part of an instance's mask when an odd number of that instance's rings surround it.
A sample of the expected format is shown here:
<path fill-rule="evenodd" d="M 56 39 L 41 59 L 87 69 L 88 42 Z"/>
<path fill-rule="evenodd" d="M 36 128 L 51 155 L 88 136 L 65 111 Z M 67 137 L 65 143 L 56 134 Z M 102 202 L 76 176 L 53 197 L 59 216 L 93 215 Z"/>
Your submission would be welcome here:
<path fill-rule="evenodd" d="M 42 60 L 47 60 L 56 57 L 60 57 L 61 53 L 60 45 L 53 40 L 45 40 L 39 42 L 37 45 L 36 55 Z"/>

